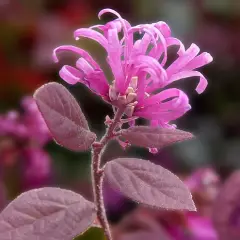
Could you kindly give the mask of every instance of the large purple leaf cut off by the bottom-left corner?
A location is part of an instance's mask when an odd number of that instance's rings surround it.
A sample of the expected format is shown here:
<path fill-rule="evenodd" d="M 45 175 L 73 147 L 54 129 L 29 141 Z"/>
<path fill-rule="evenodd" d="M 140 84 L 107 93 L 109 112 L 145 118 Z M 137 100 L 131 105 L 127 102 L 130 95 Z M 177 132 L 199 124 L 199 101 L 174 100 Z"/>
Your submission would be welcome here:
<path fill-rule="evenodd" d="M 1 240 L 72 240 L 96 218 L 95 206 L 60 188 L 21 194 L 0 215 Z"/>

